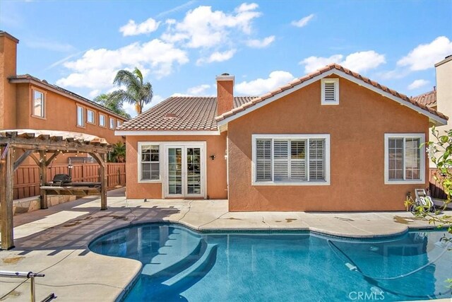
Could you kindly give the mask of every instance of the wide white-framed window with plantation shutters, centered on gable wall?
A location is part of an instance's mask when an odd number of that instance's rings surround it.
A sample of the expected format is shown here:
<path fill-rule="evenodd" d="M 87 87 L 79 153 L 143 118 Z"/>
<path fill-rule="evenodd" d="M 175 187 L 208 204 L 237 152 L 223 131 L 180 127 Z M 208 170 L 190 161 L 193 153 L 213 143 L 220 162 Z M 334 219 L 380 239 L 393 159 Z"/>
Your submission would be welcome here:
<path fill-rule="evenodd" d="M 253 134 L 253 185 L 329 185 L 330 134 Z"/>

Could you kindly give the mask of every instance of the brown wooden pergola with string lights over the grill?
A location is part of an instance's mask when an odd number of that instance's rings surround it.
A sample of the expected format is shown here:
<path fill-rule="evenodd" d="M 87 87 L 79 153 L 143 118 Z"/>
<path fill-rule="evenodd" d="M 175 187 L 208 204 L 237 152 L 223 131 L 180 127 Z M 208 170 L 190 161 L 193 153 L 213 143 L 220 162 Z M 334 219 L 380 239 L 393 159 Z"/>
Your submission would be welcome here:
<path fill-rule="evenodd" d="M 38 133 L 45 133 L 44 131 Z M 49 132 L 52 133 L 52 132 Z M 62 132 L 59 132 L 62 133 Z M 69 133 L 69 132 L 68 132 Z M 1 249 L 14 248 L 13 238 L 13 179 L 14 171 L 30 156 L 40 167 L 40 207 L 47 209 L 47 168 L 61 153 L 88 153 L 100 165 L 100 209 L 107 209 L 107 171 L 105 154 L 111 145 L 105 139 L 80 139 L 70 135 L 36 134 L 35 132 L 0 132 L 0 204 L 1 204 Z M 15 150 L 23 154 L 14 161 Z M 39 153 L 39 157 L 34 153 Z M 47 153 L 51 155 L 47 158 Z"/>

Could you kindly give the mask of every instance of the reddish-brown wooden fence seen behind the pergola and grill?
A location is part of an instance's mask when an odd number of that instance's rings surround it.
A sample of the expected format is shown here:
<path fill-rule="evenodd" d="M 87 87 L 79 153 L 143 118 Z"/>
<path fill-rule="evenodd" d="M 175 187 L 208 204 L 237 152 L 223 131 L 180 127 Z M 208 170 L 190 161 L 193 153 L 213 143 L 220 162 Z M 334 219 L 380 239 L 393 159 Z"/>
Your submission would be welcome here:
<path fill-rule="evenodd" d="M 55 164 L 47 171 L 47 182 L 56 174 L 69 174 L 67 164 Z M 75 163 L 73 182 L 100 182 L 100 166 L 97 163 Z M 126 164 L 107 163 L 107 188 L 126 185 Z M 14 172 L 13 199 L 40 194 L 40 168 L 37 165 L 20 165 Z"/>

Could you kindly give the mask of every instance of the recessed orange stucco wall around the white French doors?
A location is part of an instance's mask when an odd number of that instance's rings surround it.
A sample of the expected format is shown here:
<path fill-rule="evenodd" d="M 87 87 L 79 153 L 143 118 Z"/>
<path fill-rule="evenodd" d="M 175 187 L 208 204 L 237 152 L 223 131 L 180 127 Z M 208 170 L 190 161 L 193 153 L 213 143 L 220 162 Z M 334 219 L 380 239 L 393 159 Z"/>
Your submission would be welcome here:
<path fill-rule="evenodd" d="M 207 195 L 227 198 L 226 134 L 209 136 L 128 136 L 126 137 L 127 198 L 162 198 L 162 183 L 138 183 L 138 141 L 206 141 Z M 160 151 L 160 154 L 163 154 Z M 215 160 L 209 156 L 215 155 Z M 164 167 L 160 166 L 162 171 Z"/>

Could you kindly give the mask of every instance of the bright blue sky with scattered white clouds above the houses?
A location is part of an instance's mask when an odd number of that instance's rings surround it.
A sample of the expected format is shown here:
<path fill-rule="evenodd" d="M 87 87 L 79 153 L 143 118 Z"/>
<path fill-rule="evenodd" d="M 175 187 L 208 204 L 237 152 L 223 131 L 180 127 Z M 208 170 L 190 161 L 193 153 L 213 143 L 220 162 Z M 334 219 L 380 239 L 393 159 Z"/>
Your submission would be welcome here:
<path fill-rule="evenodd" d="M 135 66 L 155 104 L 215 95 L 224 72 L 260 95 L 331 62 L 418 95 L 452 54 L 452 1 L 1 0 L 0 29 L 20 40 L 18 74 L 88 98 Z"/>

